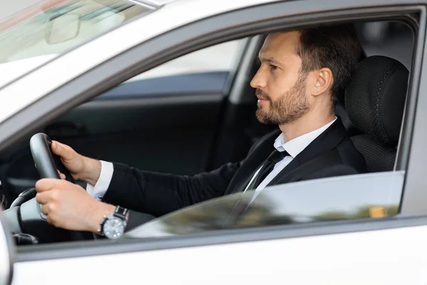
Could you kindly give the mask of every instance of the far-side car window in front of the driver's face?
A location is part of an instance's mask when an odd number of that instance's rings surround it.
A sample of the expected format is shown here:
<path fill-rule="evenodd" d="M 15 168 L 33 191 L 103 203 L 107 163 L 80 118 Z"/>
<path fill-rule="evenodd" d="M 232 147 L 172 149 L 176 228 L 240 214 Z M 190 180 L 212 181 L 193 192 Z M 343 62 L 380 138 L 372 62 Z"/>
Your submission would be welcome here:
<path fill-rule="evenodd" d="M 246 38 L 219 43 L 167 61 L 130 78 L 100 98 L 226 94 L 228 79 L 240 60 Z"/>

